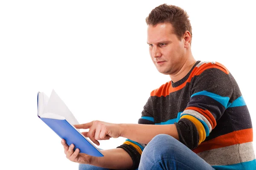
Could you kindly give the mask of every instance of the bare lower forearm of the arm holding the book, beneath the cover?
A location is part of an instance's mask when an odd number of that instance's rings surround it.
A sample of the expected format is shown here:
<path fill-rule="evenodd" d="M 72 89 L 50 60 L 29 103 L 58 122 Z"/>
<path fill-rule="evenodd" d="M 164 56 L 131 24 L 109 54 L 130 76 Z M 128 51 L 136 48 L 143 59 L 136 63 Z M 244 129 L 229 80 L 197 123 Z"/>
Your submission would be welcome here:
<path fill-rule="evenodd" d="M 122 148 L 101 150 L 103 157 L 93 157 L 91 165 L 113 170 L 130 169 L 133 165 L 131 156 Z"/>

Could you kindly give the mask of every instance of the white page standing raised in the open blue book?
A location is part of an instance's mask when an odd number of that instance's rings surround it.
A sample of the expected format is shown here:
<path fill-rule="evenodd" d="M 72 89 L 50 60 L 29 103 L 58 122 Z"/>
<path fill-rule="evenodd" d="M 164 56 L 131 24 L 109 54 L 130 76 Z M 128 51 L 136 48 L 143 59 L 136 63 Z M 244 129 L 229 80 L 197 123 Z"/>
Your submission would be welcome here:
<path fill-rule="evenodd" d="M 54 113 L 59 116 L 64 116 L 67 122 L 71 125 L 79 124 L 76 120 L 75 116 L 71 113 L 71 111 L 67 108 L 67 105 L 61 100 L 61 98 L 56 94 L 54 90 L 52 90 L 52 94 L 48 100 L 46 107 L 44 108 L 44 113 Z"/>

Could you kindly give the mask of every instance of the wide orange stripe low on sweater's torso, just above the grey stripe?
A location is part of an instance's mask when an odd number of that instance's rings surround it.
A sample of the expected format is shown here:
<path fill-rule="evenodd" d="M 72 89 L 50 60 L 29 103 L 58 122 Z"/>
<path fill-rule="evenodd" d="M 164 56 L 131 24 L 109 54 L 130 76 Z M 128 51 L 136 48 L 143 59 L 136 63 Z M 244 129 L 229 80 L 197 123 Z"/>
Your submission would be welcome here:
<path fill-rule="evenodd" d="M 197 148 L 193 150 L 195 153 L 200 153 L 205 150 L 216 149 L 220 147 L 227 147 L 233 144 L 242 144 L 253 142 L 253 129 L 237 130 L 225 135 L 218 136 L 206 142 L 202 142 Z"/>

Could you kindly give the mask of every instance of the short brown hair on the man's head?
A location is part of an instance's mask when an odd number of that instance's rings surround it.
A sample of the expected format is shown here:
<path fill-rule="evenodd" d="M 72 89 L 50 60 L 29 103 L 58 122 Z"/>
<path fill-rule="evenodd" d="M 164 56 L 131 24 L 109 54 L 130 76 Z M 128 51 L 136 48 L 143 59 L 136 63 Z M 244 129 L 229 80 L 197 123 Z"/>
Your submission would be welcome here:
<path fill-rule="evenodd" d="M 147 25 L 157 25 L 159 23 L 171 23 L 174 34 L 181 40 L 186 31 L 189 31 L 192 39 L 192 27 L 189 15 L 182 8 L 173 5 L 162 4 L 154 8 L 146 17 Z M 191 41 L 190 41 L 191 44 Z"/>

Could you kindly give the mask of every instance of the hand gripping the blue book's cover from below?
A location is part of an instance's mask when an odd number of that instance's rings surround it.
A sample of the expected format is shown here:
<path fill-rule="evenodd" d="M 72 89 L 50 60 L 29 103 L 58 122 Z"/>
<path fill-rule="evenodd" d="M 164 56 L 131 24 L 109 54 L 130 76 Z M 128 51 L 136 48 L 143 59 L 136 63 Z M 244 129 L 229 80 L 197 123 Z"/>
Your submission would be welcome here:
<path fill-rule="evenodd" d="M 79 164 L 91 164 L 93 161 L 93 156 L 87 155 L 85 153 L 79 153 L 80 150 L 76 148 L 74 151 L 74 144 L 67 145 L 64 139 L 61 140 L 61 144 L 64 147 L 64 153 L 66 154 L 67 159 Z"/>

